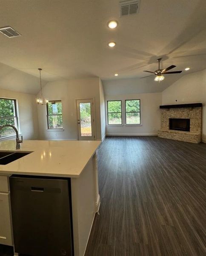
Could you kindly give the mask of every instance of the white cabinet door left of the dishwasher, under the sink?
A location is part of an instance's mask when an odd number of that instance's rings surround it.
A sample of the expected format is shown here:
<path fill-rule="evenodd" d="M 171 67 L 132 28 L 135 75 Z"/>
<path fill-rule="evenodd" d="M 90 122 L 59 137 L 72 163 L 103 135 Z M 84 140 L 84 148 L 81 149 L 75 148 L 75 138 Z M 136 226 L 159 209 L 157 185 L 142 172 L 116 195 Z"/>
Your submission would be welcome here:
<path fill-rule="evenodd" d="M 12 246 L 10 214 L 10 194 L 0 193 L 0 244 Z"/>

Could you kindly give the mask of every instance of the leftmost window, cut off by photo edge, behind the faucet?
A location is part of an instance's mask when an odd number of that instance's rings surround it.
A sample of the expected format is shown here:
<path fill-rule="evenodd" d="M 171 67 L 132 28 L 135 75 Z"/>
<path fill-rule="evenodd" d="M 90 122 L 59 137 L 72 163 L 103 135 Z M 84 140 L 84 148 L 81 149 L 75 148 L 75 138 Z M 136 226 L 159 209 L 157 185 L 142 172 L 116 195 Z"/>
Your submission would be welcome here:
<path fill-rule="evenodd" d="M 17 102 L 15 99 L 0 98 L 0 126 L 14 125 L 18 129 Z M 3 128 L 0 131 L 1 137 L 12 136 L 15 131 L 11 127 Z"/>

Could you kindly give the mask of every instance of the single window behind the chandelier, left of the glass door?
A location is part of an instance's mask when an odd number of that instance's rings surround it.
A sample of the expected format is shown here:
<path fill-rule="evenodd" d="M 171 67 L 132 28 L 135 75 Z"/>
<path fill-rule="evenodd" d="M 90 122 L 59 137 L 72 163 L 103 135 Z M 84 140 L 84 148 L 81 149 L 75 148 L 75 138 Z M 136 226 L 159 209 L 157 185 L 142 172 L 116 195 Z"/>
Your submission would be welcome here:
<path fill-rule="evenodd" d="M 46 106 L 48 129 L 63 129 L 62 102 L 60 100 L 49 101 Z"/>

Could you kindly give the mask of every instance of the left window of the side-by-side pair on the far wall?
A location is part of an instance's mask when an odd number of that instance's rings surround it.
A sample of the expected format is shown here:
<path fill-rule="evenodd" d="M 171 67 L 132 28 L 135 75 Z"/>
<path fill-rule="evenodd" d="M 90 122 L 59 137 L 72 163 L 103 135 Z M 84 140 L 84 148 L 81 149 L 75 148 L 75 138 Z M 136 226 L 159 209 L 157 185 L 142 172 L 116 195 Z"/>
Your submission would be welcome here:
<path fill-rule="evenodd" d="M 122 124 L 122 101 L 107 101 L 107 119 L 108 125 Z"/>

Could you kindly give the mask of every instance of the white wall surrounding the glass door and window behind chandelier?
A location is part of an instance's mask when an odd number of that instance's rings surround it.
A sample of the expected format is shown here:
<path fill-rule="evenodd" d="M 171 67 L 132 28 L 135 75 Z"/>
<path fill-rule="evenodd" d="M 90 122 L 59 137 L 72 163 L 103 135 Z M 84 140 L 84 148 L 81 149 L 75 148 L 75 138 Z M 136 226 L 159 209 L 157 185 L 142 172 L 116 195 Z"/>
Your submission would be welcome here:
<path fill-rule="evenodd" d="M 78 140 L 77 99 L 94 99 L 96 139 L 101 140 L 99 78 L 52 81 L 43 87 L 43 96 L 49 100 L 62 101 L 63 131 L 47 130 L 46 105 L 39 105 L 37 108 L 41 140 Z"/>

